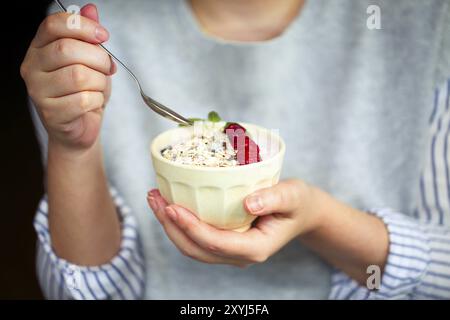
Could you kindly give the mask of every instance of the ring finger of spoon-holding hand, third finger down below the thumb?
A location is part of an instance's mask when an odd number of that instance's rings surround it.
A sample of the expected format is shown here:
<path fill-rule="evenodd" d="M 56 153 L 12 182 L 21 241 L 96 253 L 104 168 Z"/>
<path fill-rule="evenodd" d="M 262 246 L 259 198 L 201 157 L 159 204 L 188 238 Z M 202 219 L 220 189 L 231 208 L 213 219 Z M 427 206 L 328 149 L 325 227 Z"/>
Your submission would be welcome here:
<path fill-rule="evenodd" d="M 82 64 L 75 64 L 46 73 L 43 83 L 54 83 L 46 86 L 44 96 L 58 98 L 81 91 L 101 91 L 107 88 L 108 79 L 103 73 Z"/>

